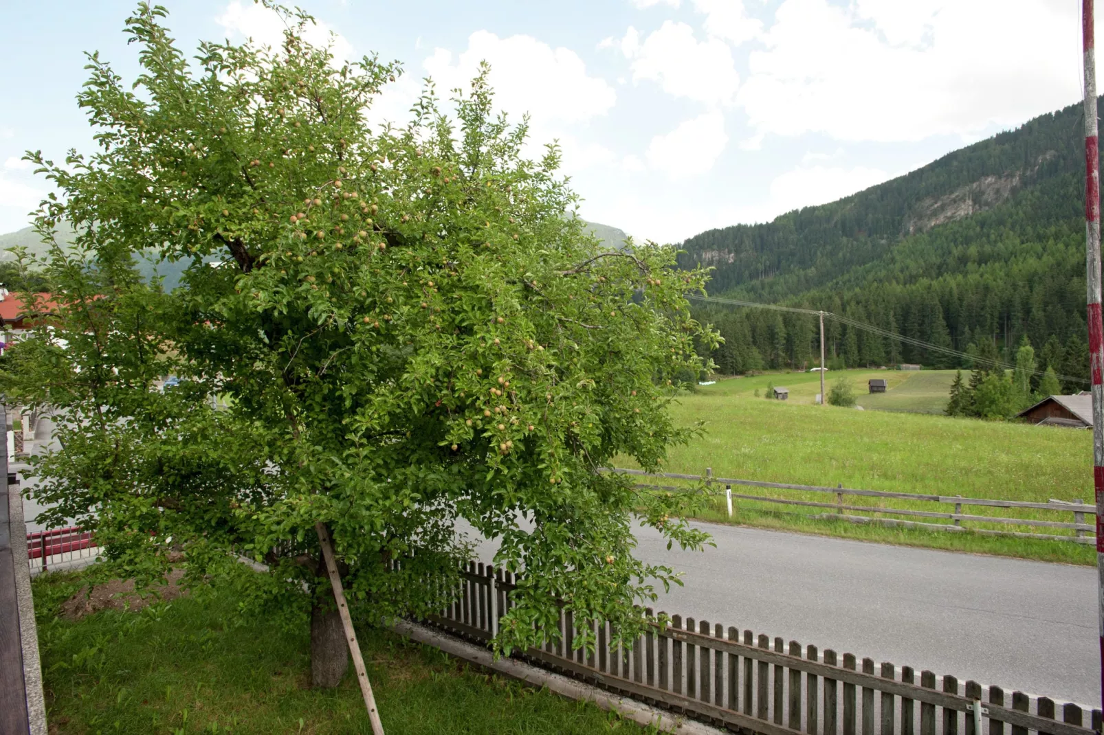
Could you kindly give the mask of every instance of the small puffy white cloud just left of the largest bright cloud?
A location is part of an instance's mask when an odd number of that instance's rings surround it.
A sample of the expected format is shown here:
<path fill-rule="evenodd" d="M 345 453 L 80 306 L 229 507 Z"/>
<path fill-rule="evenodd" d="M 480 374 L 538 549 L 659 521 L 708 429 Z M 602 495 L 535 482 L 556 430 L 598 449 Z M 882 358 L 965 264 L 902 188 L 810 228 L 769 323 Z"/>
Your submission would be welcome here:
<path fill-rule="evenodd" d="M 665 21 L 643 44 L 636 29 L 629 26 L 620 45 L 633 58 L 634 82 L 656 82 L 675 97 L 726 104 L 740 86 L 729 44 L 712 38 L 699 42 L 686 23 Z"/>

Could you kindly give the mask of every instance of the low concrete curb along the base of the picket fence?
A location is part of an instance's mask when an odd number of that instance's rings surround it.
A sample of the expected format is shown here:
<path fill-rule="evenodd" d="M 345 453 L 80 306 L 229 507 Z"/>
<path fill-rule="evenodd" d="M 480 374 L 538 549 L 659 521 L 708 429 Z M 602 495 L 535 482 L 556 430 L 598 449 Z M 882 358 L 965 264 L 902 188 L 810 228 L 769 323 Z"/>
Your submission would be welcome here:
<path fill-rule="evenodd" d="M 679 735 L 731 735 L 726 729 L 719 729 L 694 720 L 677 717 L 666 710 L 647 705 L 636 700 L 618 696 L 591 684 L 562 677 L 551 671 L 544 671 L 517 659 L 499 658 L 480 646 L 449 636 L 446 632 L 427 626 L 400 620 L 391 626 L 395 632 L 427 646 L 438 648 L 450 656 L 476 663 L 502 675 L 531 684 L 546 686 L 549 691 L 571 700 L 594 702 L 606 711 L 618 712 L 627 720 L 640 725 L 655 725 L 662 733 Z"/>

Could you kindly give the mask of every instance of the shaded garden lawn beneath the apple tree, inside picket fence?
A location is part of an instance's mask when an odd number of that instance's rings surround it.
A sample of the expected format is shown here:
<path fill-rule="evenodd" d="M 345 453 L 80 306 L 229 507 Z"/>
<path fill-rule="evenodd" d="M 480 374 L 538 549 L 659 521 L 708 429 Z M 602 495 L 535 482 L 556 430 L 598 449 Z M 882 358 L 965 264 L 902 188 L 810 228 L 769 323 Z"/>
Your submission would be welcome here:
<path fill-rule="evenodd" d="M 306 628 L 293 635 L 261 622 L 235 626 L 238 599 L 230 592 L 59 618 L 60 604 L 82 584 L 60 573 L 34 580 L 52 735 L 371 733 L 351 674 L 336 690 L 309 689 Z M 487 675 L 396 635 L 367 626 L 359 632 L 389 733 L 644 732 L 593 704 Z"/>

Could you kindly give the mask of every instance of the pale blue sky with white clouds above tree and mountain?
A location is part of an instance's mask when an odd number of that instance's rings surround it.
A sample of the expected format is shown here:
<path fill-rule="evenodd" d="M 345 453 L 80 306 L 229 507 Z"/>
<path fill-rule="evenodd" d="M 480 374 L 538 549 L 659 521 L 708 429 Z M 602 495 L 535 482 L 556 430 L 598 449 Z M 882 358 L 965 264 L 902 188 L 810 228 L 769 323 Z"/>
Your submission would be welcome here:
<path fill-rule="evenodd" d="M 160 0 L 199 40 L 279 40 L 252 0 Z M 496 100 L 558 140 L 581 214 L 676 243 L 835 201 L 1080 100 L 1080 0 L 298 0 L 339 57 L 403 64 L 402 122 L 491 65 Z M 85 52 L 124 79 L 135 2 L 0 0 L 0 233 L 50 190 L 21 158 L 91 152 Z M 1071 130 L 1080 137 L 1080 130 Z"/>

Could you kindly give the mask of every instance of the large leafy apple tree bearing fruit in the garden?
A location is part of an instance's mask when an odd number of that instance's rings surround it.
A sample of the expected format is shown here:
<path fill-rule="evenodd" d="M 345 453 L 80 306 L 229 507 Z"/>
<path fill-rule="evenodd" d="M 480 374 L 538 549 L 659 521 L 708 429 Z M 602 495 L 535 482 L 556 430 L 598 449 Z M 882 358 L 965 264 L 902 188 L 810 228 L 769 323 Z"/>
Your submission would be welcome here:
<path fill-rule="evenodd" d="M 716 347 L 681 296 L 704 274 L 650 244 L 602 251 L 558 149 L 521 156 L 527 126 L 493 111 L 485 75 L 455 118 L 429 89 L 410 126 L 374 129 L 365 110 L 401 70 L 342 63 L 302 40 L 308 17 L 277 12 L 279 49 L 203 43 L 188 61 L 140 4 L 137 88 L 89 57 L 99 150 L 31 155 L 61 192 L 40 232 L 77 233 L 46 264 L 52 329 L 0 375 L 59 412 L 35 496 L 97 535 L 105 575 L 183 564 L 274 625 L 311 619 L 315 664 L 341 635 L 321 535 L 376 621 L 447 600 L 458 519 L 523 572 L 502 649 L 554 630 L 558 600 L 576 642 L 597 618 L 631 638 L 637 604 L 677 578 L 634 558 L 630 522 L 705 536 L 679 520 L 684 498 L 597 470 L 615 455 L 655 470 L 692 436 L 666 406 L 703 366 L 694 340 Z M 138 277 L 149 249 L 187 265 L 179 288 Z M 180 385 L 156 390 L 168 374 Z"/>

